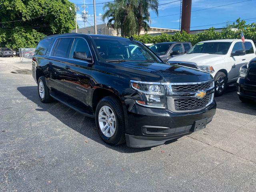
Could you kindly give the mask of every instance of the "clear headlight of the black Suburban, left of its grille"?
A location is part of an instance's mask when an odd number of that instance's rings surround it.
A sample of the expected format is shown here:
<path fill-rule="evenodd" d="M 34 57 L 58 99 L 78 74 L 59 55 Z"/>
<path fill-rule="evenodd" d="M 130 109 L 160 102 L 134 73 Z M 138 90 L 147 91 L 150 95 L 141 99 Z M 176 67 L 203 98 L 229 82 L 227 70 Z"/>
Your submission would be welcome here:
<path fill-rule="evenodd" d="M 146 83 L 131 80 L 131 87 L 138 91 L 142 100 L 135 100 L 137 104 L 151 108 L 166 108 L 164 86 L 158 83 Z"/>

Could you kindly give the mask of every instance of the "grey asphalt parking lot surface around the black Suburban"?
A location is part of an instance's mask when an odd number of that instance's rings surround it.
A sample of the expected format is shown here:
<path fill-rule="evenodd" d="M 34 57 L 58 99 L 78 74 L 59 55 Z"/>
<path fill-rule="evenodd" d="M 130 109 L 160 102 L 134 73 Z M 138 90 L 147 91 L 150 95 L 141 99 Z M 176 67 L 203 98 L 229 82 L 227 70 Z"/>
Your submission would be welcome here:
<path fill-rule="evenodd" d="M 40 102 L 31 62 L 0 58 L 0 68 L 0 191 L 256 191 L 256 104 L 234 88 L 202 131 L 114 147 L 94 119 Z"/>

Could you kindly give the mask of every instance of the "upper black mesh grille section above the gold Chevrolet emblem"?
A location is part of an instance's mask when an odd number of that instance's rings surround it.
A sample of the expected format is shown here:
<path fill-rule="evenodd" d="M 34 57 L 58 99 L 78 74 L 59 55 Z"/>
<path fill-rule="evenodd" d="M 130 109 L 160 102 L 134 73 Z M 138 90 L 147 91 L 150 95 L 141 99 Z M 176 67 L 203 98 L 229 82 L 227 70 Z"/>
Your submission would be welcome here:
<path fill-rule="evenodd" d="M 212 87 L 212 82 L 194 85 L 172 85 L 173 92 L 197 92 L 198 90 L 207 90 Z"/>

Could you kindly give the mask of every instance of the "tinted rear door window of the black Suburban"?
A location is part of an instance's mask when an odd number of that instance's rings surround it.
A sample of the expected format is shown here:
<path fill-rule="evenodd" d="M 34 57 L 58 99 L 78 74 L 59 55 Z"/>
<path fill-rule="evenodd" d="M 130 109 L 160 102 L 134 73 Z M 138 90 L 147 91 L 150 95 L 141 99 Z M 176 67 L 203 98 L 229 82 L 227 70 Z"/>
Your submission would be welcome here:
<path fill-rule="evenodd" d="M 54 51 L 54 56 L 56 57 L 62 57 L 62 58 L 69 58 L 70 49 L 72 46 L 74 38 L 61 38 L 56 45 L 56 48 Z"/>

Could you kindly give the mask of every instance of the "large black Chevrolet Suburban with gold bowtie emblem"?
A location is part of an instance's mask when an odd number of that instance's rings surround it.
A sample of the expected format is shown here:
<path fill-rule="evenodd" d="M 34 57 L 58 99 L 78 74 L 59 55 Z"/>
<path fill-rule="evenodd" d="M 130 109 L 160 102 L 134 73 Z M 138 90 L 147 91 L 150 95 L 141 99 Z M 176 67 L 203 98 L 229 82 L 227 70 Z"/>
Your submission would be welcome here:
<path fill-rule="evenodd" d="M 209 73 L 166 64 L 133 38 L 47 36 L 32 62 L 40 100 L 95 118 L 110 145 L 164 144 L 205 128 L 216 112 Z"/>

